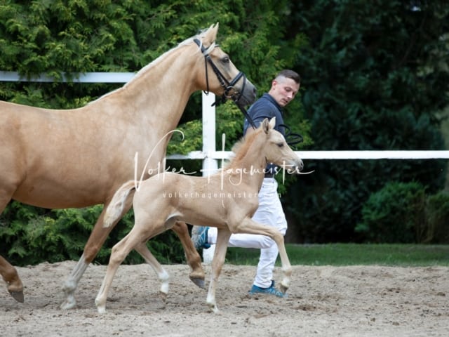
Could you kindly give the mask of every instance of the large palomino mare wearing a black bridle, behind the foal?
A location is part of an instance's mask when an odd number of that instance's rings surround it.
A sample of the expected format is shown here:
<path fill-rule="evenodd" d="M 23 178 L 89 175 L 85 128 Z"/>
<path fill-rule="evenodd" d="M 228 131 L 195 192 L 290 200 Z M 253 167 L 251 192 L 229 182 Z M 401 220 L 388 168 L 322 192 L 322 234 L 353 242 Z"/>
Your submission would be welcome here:
<path fill-rule="evenodd" d="M 0 102 L 0 212 L 11 199 L 48 209 L 94 204 L 106 209 L 117 188 L 135 172 L 148 178 L 160 167 L 170 132 L 194 91 L 225 95 L 239 107 L 253 103 L 255 87 L 215 44 L 217 30 L 218 24 L 211 25 L 183 41 L 122 88 L 79 109 Z M 123 207 L 121 216 L 130 206 Z M 103 227 L 105 209 L 65 282 L 67 298 L 61 308 L 76 306 L 76 286 L 115 225 Z M 187 225 L 178 223 L 173 230 L 192 268 L 190 277 L 201 286 L 201 258 Z M 20 277 L 1 257 L 0 273 L 13 298 L 23 302 Z"/>

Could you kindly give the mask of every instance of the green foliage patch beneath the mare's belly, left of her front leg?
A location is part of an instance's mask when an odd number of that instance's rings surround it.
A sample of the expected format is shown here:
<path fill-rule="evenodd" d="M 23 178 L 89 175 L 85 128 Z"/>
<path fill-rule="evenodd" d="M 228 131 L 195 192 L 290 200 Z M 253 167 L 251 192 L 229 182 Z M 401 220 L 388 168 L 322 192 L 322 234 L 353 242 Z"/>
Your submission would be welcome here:
<path fill-rule="evenodd" d="M 44 210 L 11 202 L 0 216 L 1 253 L 16 265 L 77 260 L 101 209 Z"/>

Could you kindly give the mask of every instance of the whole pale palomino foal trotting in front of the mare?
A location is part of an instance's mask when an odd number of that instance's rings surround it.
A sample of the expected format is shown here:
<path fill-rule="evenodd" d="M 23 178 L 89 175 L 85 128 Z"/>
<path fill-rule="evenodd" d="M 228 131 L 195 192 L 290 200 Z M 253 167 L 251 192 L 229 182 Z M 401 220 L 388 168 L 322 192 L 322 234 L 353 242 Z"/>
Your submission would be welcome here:
<path fill-rule="evenodd" d="M 291 168 L 299 173 L 302 161 L 288 147 L 281 133 L 274 130 L 275 119 L 264 119 L 262 125 L 237 143 L 235 157 L 221 171 L 208 177 L 193 177 L 176 173 L 160 173 L 142 181 L 123 184 L 112 197 L 105 213 L 105 226 L 112 225 L 123 214 L 133 197 L 135 224 L 116 244 L 109 259 L 105 279 L 95 299 L 98 312 L 106 312 L 106 298 L 115 272 L 128 253 L 135 249 L 145 256 L 161 281 L 161 293 L 168 293 L 168 274 L 152 256 L 147 240 L 168 230 L 177 221 L 218 228 L 217 245 L 212 261 L 207 304 L 218 312 L 215 288 L 225 262 L 227 243 L 231 233 L 263 234 L 274 239 L 281 256 L 283 280 L 281 290 L 290 284 L 291 267 L 283 242 L 283 235 L 274 227 L 251 219 L 258 205 L 258 192 L 264 179 L 267 163 Z M 135 192 L 137 191 L 137 192 Z M 206 206 L 205 206 L 206 205 Z"/>

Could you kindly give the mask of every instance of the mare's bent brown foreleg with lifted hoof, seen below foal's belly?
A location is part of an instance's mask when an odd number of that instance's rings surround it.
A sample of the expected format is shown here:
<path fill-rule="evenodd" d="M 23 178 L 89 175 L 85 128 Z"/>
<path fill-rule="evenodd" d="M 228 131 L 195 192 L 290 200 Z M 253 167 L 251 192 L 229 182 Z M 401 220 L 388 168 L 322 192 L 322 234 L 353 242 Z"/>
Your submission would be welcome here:
<path fill-rule="evenodd" d="M 186 223 L 176 222 L 172 227 L 173 232 L 177 234 L 180 238 L 182 247 L 185 251 L 185 257 L 187 258 L 187 263 L 189 264 L 192 271 L 190 272 L 190 279 L 194 284 L 200 288 L 204 288 L 204 270 L 203 265 L 201 265 L 201 256 L 199 256 L 198 251 L 196 251 L 192 240 L 190 239 L 189 229 Z"/>

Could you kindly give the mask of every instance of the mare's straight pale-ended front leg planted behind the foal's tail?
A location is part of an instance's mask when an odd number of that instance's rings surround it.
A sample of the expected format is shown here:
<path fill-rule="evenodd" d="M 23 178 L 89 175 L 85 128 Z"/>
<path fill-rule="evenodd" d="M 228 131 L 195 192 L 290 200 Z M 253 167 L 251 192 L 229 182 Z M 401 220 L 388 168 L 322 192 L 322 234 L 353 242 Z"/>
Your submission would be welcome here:
<path fill-rule="evenodd" d="M 126 212 L 128 212 L 128 210 L 130 209 L 132 198 L 129 198 L 129 200 L 127 201 L 128 204 L 123 207 L 123 212 L 118 219 L 121 219 L 123 215 L 125 215 Z M 72 270 L 72 273 L 65 281 L 63 289 L 66 298 L 65 302 L 60 306 L 61 309 L 72 309 L 76 307 L 74 292 L 76 290 L 76 287 L 78 286 L 79 280 L 81 279 L 81 277 L 83 277 L 83 274 L 86 271 L 89 263 L 91 263 L 95 256 L 97 256 L 98 251 L 100 251 L 102 245 L 106 241 L 107 235 L 112 231 L 116 223 L 119 222 L 119 220 L 116 220 L 116 222 L 112 226 L 103 227 L 103 217 L 105 216 L 105 211 L 108 204 L 109 203 L 105 204 L 105 206 L 103 207 L 103 211 L 101 212 L 100 217 L 93 227 L 91 236 L 89 237 L 86 246 L 84 246 L 83 255 L 81 255 L 81 258 L 79 258 L 79 261 L 78 263 L 76 263 L 74 269 Z"/>

